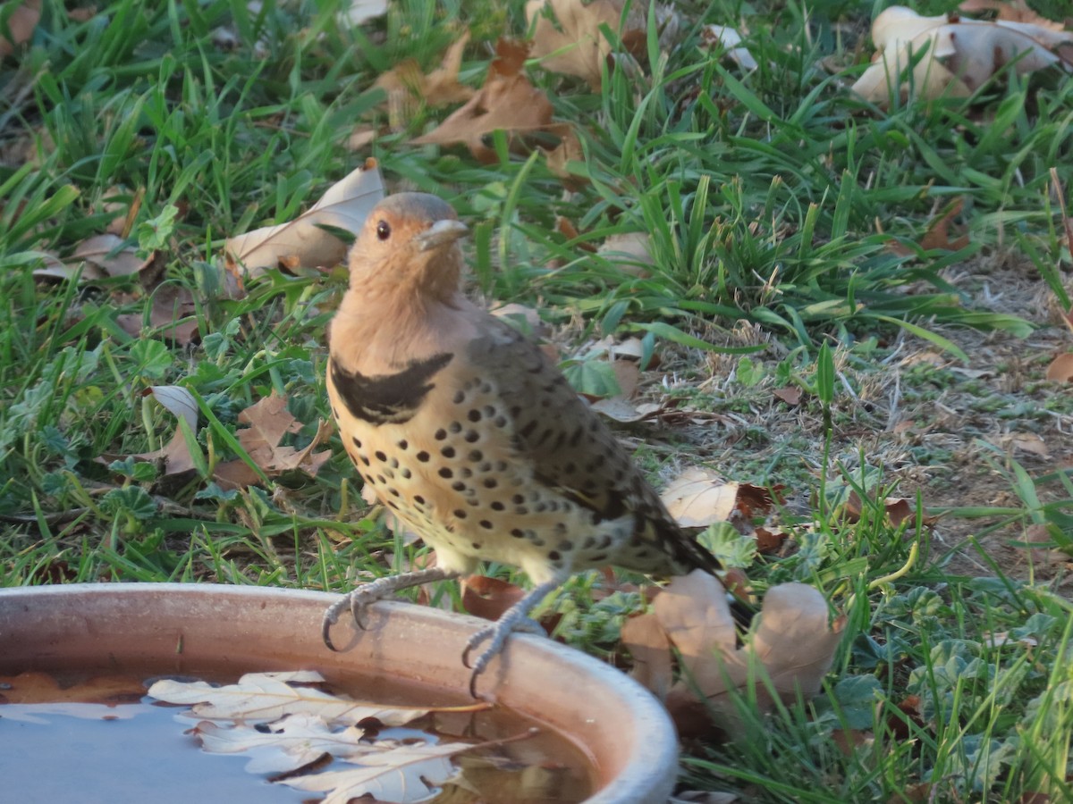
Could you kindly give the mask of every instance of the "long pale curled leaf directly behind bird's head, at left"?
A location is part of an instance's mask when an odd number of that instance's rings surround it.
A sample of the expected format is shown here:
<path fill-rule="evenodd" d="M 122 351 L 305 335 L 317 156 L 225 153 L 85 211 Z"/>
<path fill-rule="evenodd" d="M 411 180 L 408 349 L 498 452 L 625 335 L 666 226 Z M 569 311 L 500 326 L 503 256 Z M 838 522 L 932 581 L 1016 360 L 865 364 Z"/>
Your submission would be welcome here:
<path fill-rule="evenodd" d="M 369 211 L 384 197 L 384 183 L 374 160 L 328 188 L 320 200 L 293 221 L 229 238 L 227 267 L 240 277 L 265 268 L 321 268 L 342 262 L 347 243 L 321 228 L 333 226 L 357 235 Z"/>

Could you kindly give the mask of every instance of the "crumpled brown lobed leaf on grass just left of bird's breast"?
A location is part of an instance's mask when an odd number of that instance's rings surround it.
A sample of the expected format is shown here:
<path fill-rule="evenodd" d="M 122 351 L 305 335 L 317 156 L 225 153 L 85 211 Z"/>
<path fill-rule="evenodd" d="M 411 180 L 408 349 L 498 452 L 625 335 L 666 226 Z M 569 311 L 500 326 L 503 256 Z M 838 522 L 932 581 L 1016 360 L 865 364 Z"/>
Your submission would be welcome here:
<path fill-rule="evenodd" d="M 332 433 L 332 425 L 319 422 L 313 440 L 303 449 L 283 446 L 283 437 L 302 430 L 302 422 L 286 410 L 286 398 L 273 393 L 238 414 L 238 421 L 249 425 L 236 434 L 238 443 L 254 464 L 269 477 L 283 472 L 302 470 L 315 477 L 332 457 L 332 450 L 313 452 Z M 242 460 L 229 461 L 216 467 L 215 477 L 222 488 L 242 488 L 255 483 L 258 474 Z"/>

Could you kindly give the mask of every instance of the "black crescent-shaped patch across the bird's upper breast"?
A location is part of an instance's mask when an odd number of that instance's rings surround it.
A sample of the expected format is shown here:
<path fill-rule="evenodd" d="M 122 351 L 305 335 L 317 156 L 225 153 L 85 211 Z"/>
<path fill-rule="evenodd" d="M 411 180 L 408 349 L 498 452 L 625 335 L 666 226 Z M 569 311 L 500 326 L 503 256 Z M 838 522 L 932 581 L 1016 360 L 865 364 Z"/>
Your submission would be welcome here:
<path fill-rule="evenodd" d="M 332 358 L 328 371 L 352 416 L 378 426 L 401 423 L 413 418 L 425 397 L 436 387 L 432 377 L 453 357 L 450 352 L 441 352 L 424 360 L 412 360 L 395 374 L 373 376 L 347 371 Z"/>

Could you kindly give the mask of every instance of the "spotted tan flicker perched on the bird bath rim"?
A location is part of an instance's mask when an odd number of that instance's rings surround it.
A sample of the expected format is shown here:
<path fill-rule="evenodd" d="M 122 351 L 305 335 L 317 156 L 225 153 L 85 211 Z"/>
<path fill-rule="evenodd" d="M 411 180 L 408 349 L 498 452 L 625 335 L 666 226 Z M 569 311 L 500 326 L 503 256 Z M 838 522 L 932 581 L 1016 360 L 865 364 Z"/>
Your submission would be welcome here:
<path fill-rule="evenodd" d="M 468 227 L 436 195 L 396 193 L 369 213 L 328 327 L 326 386 L 342 445 L 435 567 L 363 584 L 324 613 L 474 574 L 520 567 L 533 586 L 467 642 L 477 678 L 533 607 L 572 574 L 608 564 L 653 576 L 721 565 L 676 524 L 614 433 L 540 346 L 462 292 Z M 717 576 L 718 577 L 718 576 Z M 473 651 L 484 645 L 474 661 Z"/>

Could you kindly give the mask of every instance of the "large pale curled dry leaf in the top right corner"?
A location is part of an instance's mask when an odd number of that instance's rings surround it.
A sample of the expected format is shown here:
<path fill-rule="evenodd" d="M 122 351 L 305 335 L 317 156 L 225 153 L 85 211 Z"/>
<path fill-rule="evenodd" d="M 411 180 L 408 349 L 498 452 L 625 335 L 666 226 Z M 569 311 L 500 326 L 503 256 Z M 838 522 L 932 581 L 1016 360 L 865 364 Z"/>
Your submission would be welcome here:
<path fill-rule="evenodd" d="M 879 54 L 852 89 L 886 106 L 894 92 L 908 98 L 910 83 L 903 83 L 901 75 L 911 63 L 911 54 L 927 48 L 927 55 L 912 68 L 912 86 L 921 98 L 968 98 L 1014 60 L 1020 75 L 1053 65 L 1069 70 L 1069 61 L 1048 48 L 1073 42 L 1073 33 L 1004 19 L 922 17 L 894 5 L 876 17 L 872 41 Z"/>

